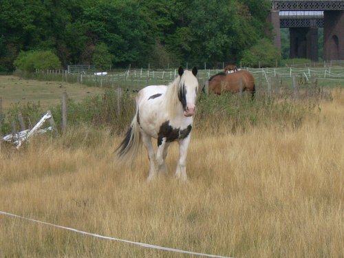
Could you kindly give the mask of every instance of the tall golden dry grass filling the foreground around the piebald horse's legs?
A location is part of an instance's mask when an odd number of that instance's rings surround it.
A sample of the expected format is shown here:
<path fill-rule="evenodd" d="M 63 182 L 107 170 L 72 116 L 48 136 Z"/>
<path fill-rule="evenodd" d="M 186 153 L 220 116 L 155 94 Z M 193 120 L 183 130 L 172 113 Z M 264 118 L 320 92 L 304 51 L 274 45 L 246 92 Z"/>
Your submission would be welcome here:
<path fill-rule="evenodd" d="M 344 92 L 333 96 L 297 129 L 193 131 L 186 183 L 173 178 L 177 144 L 169 175 L 147 183 L 145 150 L 117 166 L 121 138 L 107 129 L 69 129 L 19 151 L 2 144 L 0 211 L 228 257 L 344 257 Z M 0 257 L 190 255 L 0 215 Z"/>

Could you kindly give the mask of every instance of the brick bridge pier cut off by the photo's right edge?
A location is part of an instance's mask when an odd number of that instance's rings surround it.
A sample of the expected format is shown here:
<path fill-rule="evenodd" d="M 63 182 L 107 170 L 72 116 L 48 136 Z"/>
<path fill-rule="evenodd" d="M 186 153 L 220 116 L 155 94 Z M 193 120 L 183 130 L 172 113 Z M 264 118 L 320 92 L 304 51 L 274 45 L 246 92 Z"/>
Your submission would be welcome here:
<path fill-rule="evenodd" d="M 344 60 L 344 11 L 324 11 L 323 59 Z"/>

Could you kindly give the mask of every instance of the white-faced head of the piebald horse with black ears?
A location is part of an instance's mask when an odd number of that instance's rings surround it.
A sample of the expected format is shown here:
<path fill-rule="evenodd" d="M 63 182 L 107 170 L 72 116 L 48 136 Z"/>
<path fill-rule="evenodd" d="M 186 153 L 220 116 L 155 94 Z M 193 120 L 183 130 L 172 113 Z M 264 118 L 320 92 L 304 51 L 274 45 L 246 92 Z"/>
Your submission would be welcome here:
<path fill-rule="evenodd" d="M 198 80 L 195 77 L 197 68 L 193 67 L 192 72 L 179 67 L 180 83 L 178 85 L 178 98 L 182 103 L 184 116 L 193 116 L 196 111 L 196 97 L 198 92 Z"/>

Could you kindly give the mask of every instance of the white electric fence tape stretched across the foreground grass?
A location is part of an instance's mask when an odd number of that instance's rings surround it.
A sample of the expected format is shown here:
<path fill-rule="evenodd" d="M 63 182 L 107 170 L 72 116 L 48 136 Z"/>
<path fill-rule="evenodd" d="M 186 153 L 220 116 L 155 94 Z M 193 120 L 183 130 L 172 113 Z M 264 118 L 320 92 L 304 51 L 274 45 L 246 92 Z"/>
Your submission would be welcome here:
<path fill-rule="evenodd" d="M 41 222 L 41 221 L 36 220 L 36 219 L 30 219 L 30 218 L 28 218 L 28 217 L 22 217 L 22 216 L 19 216 L 19 215 L 14 215 L 14 214 L 12 214 L 12 213 L 6 213 L 6 212 L 4 212 L 4 211 L 0 211 L 0 214 L 2 214 L 2 215 L 8 215 L 8 216 L 11 216 L 11 217 L 19 217 L 19 218 L 21 218 L 21 219 L 26 219 L 26 220 L 29 220 L 29 221 L 31 221 L 31 222 L 36 222 L 36 223 L 40 223 L 40 224 L 45 224 L 45 225 L 49 225 L 49 226 L 54 226 L 55 228 L 63 228 L 63 229 L 65 229 L 65 230 L 74 231 L 74 232 L 76 232 L 76 233 L 80 233 L 80 234 L 83 234 L 83 235 L 90 235 L 90 236 L 92 236 L 92 237 L 98 237 L 98 238 L 101 238 L 101 239 L 114 240 L 114 241 L 121 241 L 121 242 L 129 243 L 129 244 L 135 244 L 135 245 L 137 245 L 137 246 L 142 246 L 142 247 L 145 247 L 145 248 L 152 248 L 152 249 L 158 249 L 158 250 L 165 250 L 165 251 L 169 251 L 169 252 L 180 252 L 180 253 L 184 253 L 184 254 L 199 255 L 199 256 L 204 256 L 204 257 L 230 258 L 230 257 L 220 256 L 220 255 L 207 255 L 207 254 L 204 254 L 204 253 L 201 253 L 201 252 L 191 252 L 191 251 L 179 250 L 179 249 L 168 248 L 168 247 L 163 247 L 163 246 L 154 246 L 154 245 L 152 245 L 152 244 L 144 244 L 144 243 L 140 243 L 140 242 L 134 242 L 134 241 L 124 240 L 124 239 L 118 239 L 118 238 L 114 238 L 114 237 L 105 237 L 105 236 L 103 236 L 103 235 L 88 233 L 88 232 L 81 231 L 81 230 L 77 230 L 77 229 L 74 229 L 74 228 L 68 228 L 68 227 L 66 227 L 66 226 L 58 226 L 58 225 L 50 224 L 50 223 L 47 223 L 47 222 Z"/>

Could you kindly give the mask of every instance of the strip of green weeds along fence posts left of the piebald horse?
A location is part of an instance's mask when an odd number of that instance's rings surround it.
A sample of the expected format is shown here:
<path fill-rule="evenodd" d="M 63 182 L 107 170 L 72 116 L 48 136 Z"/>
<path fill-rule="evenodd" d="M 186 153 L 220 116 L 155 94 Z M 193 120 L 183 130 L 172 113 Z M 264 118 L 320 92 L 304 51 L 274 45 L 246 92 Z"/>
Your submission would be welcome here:
<path fill-rule="evenodd" d="M 120 103 L 118 103 L 120 99 Z M 118 105 L 119 104 L 119 105 Z M 120 107 L 120 109 L 118 109 Z M 101 96 L 85 98 L 80 102 L 67 100 L 67 125 L 68 127 L 87 124 L 89 126 L 109 126 L 116 133 L 126 131 L 135 113 L 135 96 L 129 92 L 122 92 L 118 98 L 117 89 L 106 89 Z M 62 107 L 50 107 L 56 127 L 61 129 Z M 19 129 L 18 114 L 23 115 L 26 127 L 34 126 L 46 110 L 40 103 L 15 103 L 3 117 L 1 129 L 3 133 L 10 133 L 11 122 L 14 121 Z"/>

